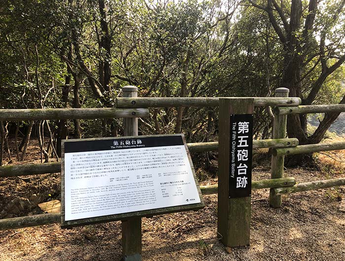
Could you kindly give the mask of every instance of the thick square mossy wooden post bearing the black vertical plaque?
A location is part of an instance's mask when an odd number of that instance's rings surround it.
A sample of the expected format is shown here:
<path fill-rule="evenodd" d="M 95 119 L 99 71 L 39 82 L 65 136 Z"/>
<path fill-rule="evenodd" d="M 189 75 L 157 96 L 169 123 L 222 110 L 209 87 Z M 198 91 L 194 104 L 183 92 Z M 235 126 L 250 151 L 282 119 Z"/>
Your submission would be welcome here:
<path fill-rule="evenodd" d="M 226 247 L 243 247 L 248 246 L 250 241 L 250 185 L 251 185 L 251 159 L 247 171 L 248 187 L 246 195 L 242 197 L 231 197 L 232 193 L 229 184 L 232 175 L 232 167 L 234 160 L 233 143 L 231 140 L 233 134 L 237 135 L 233 130 L 233 123 L 230 120 L 231 114 L 253 114 L 254 98 L 220 98 L 219 99 L 219 174 L 218 174 L 218 238 Z M 252 120 L 251 120 L 252 122 Z M 237 129 L 236 129 L 237 130 Z M 241 132 L 241 131 L 238 131 Z M 248 140 L 251 144 L 252 130 L 247 131 Z M 240 134 L 239 134 L 240 135 Z M 237 146 L 237 145 L 236 145 Z M 239 147 L 239 146 L 237 146 Z M 240 146 L 241 147 L 241 146 Z M 251 146 L 248 146 L 252 147 Z M 248 152 L 248 151 L 247 151 Z M 248 152 L 249 153 L 249 152 Z M 251 153 L 251 150 L 250 150 Z M 235 155 L 235 157 L 238 157 Z M 238 161 L 238 158 L 235 160 Z M 242 164 L 242 163 L 241 163 Z M 244 163 L 242 164 L 242 166 Z M 237 168 L 237 167 L 235 167 Z M 238 169 L 236 169 L 237 171 Z M 236 173 L 237 175 L 238 173 Z M 239 177 L 239 176 L 238 176 Z M 241 179 L 241 177 L 239 177 Z M 236 178 L 235 178 L 236 181 Z M 236 188 L 236 187 L 235 187 Z M 249 189 L 249 190 L 248 190 Z"/>

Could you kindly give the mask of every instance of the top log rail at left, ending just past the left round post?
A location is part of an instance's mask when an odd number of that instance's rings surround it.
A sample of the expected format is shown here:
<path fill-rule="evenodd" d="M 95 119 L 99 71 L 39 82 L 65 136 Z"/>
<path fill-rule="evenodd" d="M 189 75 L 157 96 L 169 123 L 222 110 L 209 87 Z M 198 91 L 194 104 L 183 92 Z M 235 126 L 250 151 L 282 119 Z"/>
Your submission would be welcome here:
<path fill-rule="evenodd" d="M 0 109 L 0 121 L 148 117 L 147 108 Z"/>

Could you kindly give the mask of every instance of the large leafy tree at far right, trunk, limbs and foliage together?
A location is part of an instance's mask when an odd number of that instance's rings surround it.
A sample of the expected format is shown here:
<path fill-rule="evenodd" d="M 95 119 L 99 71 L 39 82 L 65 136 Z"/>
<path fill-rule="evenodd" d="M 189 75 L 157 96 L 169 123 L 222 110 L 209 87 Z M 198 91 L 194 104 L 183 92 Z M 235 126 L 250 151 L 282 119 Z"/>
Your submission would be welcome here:
<path fill-rule="evenodd" d="M 263 10 L 282 45 L 283 67 L 280 86 L 290 89 L 290 96 L 312 104 L 322 92 L 326 79 L 345 62 L 344 0 L 268 0 L 249 2 Z M 345 97 L 341 99 L 345 102 Z M 288 119 L 289 136 L 301 144 L 318 143 L 339 113 L 326 114 L 312 135 L 307 133 L 306 115 Z"/>

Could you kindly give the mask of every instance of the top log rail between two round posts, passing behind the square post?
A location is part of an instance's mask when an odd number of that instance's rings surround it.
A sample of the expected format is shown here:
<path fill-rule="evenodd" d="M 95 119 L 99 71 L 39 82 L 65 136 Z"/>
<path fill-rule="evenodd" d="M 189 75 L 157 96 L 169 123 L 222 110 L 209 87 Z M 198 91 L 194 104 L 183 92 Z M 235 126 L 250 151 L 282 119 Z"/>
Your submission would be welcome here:
<path fill-rule="evenodd" d="M 116 98 L 118 108 L 148 108 L 148 107 L 218 107 L 220 97 L 198 98 Z M 233 97 L 231 97 L 233 98 Z M 236 97 L 233 99 L 238 99 Z M 248 98 L 248 97 L 246 97 Z M 254 106 L 297 106 L 301 98 L 254 97 Z"/>

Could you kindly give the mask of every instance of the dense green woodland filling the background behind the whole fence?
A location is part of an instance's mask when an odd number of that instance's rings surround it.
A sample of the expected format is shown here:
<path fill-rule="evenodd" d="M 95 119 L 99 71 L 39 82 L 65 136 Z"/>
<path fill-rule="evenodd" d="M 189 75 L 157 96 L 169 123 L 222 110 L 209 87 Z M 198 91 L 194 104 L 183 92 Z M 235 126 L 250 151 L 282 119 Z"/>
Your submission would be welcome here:
<path fill-rule="evenodd" d="M 344 5 L 7 0 L 0 6 L 0 106 L 111 107 L 124 85 L 138 86 L 143 97 L 266 97 L 287 87 L 304 104 L 345 102 Z M 255 138 L 269 137 L 272 111 L 257 108 L 255 116 Z M 304 144 L 319 142 L 337 116 L 325 115 L 312 135 L 305 116 L 290 117 L 288 134 Z M 139 128 L 143 134 L 184 132 L 189 141 L 208 141 L 217 131 L 217 113 L 159 108 L 140 119 Z M 32 130 L 44 157 L 55 147 L 59 154 L 68 135 L 122 133 L 117 120 L 3 123 L 1 132 L 5 137 L 22 131 L 18 151 L 25 151 Z"/>

